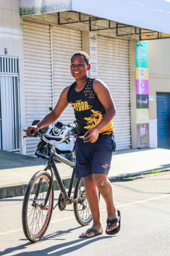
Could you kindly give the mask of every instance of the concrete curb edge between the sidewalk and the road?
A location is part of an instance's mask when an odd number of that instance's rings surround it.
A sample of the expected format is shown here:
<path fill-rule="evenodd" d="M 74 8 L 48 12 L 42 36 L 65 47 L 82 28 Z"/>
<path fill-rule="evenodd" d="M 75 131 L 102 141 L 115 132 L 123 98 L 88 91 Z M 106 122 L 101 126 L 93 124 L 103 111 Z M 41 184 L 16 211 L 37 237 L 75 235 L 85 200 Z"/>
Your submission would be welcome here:
<path fill-rule="evenodd" d="M 164 172 L 164 171 L 170 171 L 170 169 L 159 170 L 159 172 Z M 155 171 L 154 173 L 158 173 L 158 172 Z M 132 177 L 126 177 L 127 174 L 124 174 L 124 175 L 119 175 L 116 177 L 108 177 L 108 179 L 111 183 L 112 182 L 120 182 L 120 181 L 132 181 L 135 179 L 145 178 L 146 176 L 144 176 L 144 175 L 146 175 L 146 174 L 152 174 L 152 172 L 131 174 Z M 62 179 L 62 181 L 63 181 L 64 186 L 68 188 L 70 185 L 71 178 Z M 76 179 L 75 179 L 73 186 L 75 185 L 75 183 L 76 183 Z M 54 190 L 59 190 L 56 180 L 54 180 L 53 185 L 54 185 Z M 13 186 L 8 186 L 8 187 L 0 187 L 0 199 L 4 199 L 4 198 L 8 198 L 8 197 L 24 196 L 26 188 L 27 188 L 27 184 L 13 185 Z"/>

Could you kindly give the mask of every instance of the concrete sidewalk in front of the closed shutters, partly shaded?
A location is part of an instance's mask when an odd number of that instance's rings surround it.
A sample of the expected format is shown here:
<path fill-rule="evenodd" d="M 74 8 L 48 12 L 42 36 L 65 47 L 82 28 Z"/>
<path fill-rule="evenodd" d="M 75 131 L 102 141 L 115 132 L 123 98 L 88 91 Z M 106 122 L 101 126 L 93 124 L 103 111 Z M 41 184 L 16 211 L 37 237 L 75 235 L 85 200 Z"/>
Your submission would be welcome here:
<path fill-rule="evenodd" d="M 57 162 L 65 186 L 68 186 L 72 168 Z M 44 160 L 0 150 L 0 199 L 24 195 L 35 172 L 44 169 Z M 110 181 L 120 181 L 127 174 L 146 174 L 152 170 L 170 170 L 170 150 L 162 148 L 128 149 L 117 151 L 112 157 Z M 57 186 L 56 183 L 55 187 Z"/>

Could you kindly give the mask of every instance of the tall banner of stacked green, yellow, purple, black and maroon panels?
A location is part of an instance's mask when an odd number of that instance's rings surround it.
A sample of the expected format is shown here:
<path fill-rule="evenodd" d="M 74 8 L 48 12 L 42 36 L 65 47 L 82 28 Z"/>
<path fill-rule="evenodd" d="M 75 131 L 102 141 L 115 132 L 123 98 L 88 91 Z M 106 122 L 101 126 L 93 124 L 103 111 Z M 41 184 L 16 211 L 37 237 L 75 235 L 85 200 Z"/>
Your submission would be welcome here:
<path fill-rule="evenodd" d="M 136 41 L 136 123 L 137 147 L 149 147 L 148 42 Z"/>

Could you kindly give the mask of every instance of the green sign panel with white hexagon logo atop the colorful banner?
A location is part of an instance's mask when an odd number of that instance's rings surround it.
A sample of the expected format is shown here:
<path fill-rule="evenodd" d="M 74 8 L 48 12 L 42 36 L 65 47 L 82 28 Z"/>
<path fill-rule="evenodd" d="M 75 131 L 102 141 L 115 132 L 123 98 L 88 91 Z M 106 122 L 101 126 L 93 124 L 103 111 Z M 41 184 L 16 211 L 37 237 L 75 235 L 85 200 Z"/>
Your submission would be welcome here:
<path fill-rule="evenodd" d="M 136 67 L 148 68 L 148 42 L 136 41 Z"/>

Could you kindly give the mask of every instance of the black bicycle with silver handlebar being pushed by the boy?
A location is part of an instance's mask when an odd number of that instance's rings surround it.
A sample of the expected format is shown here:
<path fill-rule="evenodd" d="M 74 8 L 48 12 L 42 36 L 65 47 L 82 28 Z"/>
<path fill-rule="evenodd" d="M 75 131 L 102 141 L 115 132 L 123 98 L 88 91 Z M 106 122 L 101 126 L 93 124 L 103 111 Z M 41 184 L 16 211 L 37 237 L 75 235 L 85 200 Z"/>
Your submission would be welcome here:
<path fill-rule="evenodd" d="M 23 131 L 26 132 L 25 129 Z M 67 158 L 58 155 L 55 151 L 55 145 L 62 143 L 66 139 L 83 139 L 84 137 L 79 135 L 67 135 L 66 137 L 51 136 L 41 134 L 39 132 L 32 137 L 41 137 L 44 141 L 46 141 L 47 146 L 48 144 L 52 146 L 50 149 L 50 156 L 47 166 L 44 168 L 44 170 L 35 173 L 29 181 L 22 205 L 22 227 L 24 234 L 29 241 L 37 242 L 42 238 L 42 236 L 44 236 L 50 224 L 52 211 L 56 208 L 57 205 L 59 210 L 65 210 L 67 205 L 71 205 L 73 203 L 75 218 L 77 222 L 82 226 L 86 226 L 92 221 L 92 215 L 86 199 L 83 178 L 77 178 L 75 189 L 72 191 L 73 182 L 75 180 L 75 162 L 72 162 Z M 49 137 L 54 139 L 60 138 L 61 140 L 48 140 L 47 138 Z M 64 187 L 63 181 L 54 160 L 58 160 L 59 162 L 62 162 L 73 168 L 68 192 Z M 47 170 L 50 170 L 51 175 L 49 172 L 47 172 Z M 59 190 L 61 191 L 58 197 L 58 202 L 55 206 L 53 187 L 54 177 L 56 178 Z M 71 196 L 71 193 L 73 193 L 73 196 Z M 99 191 L 98 195 L 100 200 Z"/>

